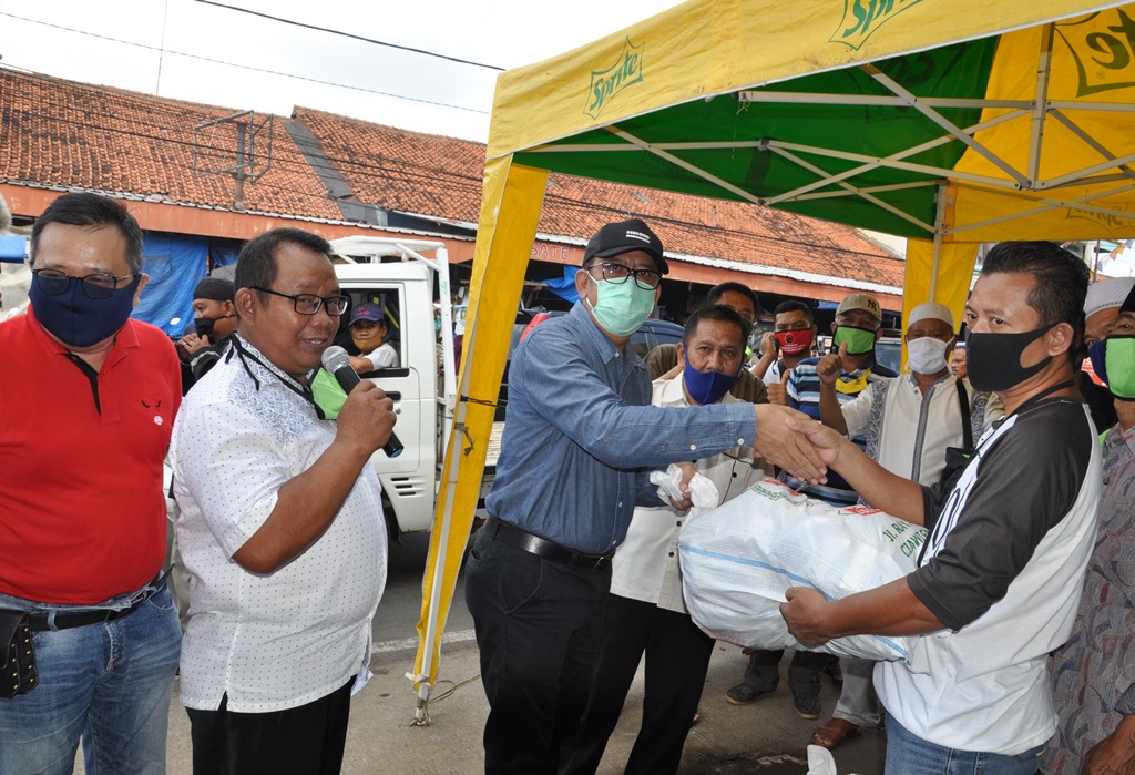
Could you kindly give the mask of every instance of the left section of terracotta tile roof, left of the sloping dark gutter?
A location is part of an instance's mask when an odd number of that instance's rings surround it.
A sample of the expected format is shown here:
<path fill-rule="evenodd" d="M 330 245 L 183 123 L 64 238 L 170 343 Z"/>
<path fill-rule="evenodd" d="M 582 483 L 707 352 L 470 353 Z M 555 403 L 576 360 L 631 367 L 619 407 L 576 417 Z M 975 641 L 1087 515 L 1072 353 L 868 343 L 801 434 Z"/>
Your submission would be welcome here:
<path fill-rule="evenodd" d="M 193 129 L 233 112 L 0 69 L 0 177 L 230 209 L 232 176 L 193 175 Z M 340 218 L 279 118 L 272 129 L 271 168 L 245 183 L 246 210 Z M 257 138 L 258 151 L 267 151 L 267 132 Z M 226 142 L 235 148 L 232 137 L 215 135 L 216 146 Z M 207 151 L 200 160 L 227 166 L 235 163 L 235 152 L 229 158 Z"/>

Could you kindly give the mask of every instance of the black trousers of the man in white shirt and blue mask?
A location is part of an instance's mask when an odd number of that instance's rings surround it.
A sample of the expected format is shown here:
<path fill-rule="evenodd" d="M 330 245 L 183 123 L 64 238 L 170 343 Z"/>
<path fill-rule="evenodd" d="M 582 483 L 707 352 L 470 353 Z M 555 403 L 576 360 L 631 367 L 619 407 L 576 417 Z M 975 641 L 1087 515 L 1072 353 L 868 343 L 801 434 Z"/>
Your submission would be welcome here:
<path fill-rule="evenodd" d="M 607 598 L 603 655 L 579 734 L 564 747 L 561 775 L 594 775 L 646 652 L 642 726 L 625 775 L 672 775 L 701 699 L 713 638 L 688 614 L 617 595 Z"/>

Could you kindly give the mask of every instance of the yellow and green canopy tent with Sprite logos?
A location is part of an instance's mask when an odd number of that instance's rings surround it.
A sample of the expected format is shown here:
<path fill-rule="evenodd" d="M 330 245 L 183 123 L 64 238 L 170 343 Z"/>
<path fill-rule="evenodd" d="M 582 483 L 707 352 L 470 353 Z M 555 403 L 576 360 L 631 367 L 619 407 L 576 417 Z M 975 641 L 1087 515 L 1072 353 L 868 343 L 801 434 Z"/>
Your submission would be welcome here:
<path fill-rule="evenodd" d="M 957 314 L 978 243 L 1135 234 L 1133 110 L 1135 5 L 1084 0 L 690 0 L 503 73 L 422 697 L 548 171 L 906 236 L 905 306 Z"/>

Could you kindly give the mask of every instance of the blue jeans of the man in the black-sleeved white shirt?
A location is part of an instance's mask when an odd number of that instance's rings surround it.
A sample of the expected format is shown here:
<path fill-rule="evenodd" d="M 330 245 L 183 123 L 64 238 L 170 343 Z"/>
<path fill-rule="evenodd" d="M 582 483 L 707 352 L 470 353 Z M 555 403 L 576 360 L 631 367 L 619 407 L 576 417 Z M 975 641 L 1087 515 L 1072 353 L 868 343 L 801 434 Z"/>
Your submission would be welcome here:
<path fill-rule="evenodd" d="M 886 715 L 886 775 L 1034 775 L 1044 745 L 1024 753 L 983 753 L 923 740 Z"/>

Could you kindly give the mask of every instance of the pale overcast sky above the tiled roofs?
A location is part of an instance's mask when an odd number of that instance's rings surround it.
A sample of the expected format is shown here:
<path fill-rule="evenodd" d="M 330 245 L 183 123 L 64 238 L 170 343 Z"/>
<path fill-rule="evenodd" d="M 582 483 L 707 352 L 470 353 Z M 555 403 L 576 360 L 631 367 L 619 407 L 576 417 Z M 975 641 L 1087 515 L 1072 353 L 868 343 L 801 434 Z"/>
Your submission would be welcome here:
<path fill-rule="evenodd" d="M 503 68 L 546 59 L 678 5 L 676 0 L 218 2 Z M 287 116 L 301 104 L 481 142 L 488 138 L 497 76 L 493 69 L 197 0 L 0 0 L 0 57 L 5 66 L 234 110 Z"/>

